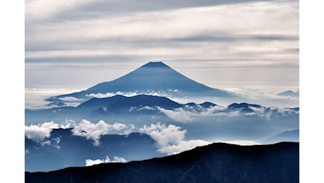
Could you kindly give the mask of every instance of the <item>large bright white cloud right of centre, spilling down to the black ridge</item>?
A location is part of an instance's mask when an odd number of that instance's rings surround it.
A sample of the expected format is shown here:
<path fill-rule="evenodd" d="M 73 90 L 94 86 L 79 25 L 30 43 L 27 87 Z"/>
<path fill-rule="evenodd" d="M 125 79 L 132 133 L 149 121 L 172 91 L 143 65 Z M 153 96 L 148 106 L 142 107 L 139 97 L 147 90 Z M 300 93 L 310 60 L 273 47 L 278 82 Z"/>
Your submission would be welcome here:
<path fill-rule="evenodd" d="M 180 129 L 181 127 L 175 125 L 166 126 L 166 124 L 158 122 L 149 126 L 144 125 L 139 131 L 149 134 L 156 141 L 158 152 L 168 155 L 187 151 L 196 146 L 209 144 L 207 141 L 200 139 L 185 141 L 187 130 Z"/>

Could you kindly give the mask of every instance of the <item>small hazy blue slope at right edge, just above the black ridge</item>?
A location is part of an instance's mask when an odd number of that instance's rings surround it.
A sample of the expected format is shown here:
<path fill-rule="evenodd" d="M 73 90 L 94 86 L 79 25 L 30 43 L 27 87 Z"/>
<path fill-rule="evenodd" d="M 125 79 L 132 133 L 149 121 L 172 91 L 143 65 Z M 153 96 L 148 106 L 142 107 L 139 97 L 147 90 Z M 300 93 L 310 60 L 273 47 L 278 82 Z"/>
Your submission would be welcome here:
<path fill-rule="evenodd" d="M 280 134 L 276 134 L 273 137 L 266 139 L 265 144 L 274 144 L 279 141 L 298 141 L 299 142 L 299 130 L 285 131 Z"/>

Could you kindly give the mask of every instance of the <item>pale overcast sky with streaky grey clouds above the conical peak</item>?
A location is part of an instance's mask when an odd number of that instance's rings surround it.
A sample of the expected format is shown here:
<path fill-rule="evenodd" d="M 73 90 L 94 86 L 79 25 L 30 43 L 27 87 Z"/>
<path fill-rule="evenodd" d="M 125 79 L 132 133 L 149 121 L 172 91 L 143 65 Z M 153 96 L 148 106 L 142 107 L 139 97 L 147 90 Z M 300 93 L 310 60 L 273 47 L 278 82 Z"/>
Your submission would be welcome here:
<path fill-rule="evenodd" d="M 209 87 L 299 89 L 299 1 L 25 1 L 25 87 L 88 88 L 149 61 Z"/>

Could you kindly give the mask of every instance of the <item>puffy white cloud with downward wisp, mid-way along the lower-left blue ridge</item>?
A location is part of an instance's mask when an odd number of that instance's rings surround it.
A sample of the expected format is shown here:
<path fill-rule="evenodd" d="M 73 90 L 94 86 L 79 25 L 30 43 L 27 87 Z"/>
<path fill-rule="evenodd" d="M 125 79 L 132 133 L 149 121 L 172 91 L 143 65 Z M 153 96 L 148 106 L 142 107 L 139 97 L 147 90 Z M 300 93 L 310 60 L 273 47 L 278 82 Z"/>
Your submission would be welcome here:
<path fill-rule="evenodd" d="M 72 132 L 73 135 L 86 137 L 87 139 L 92 139 L 94 141 L 94 146 L 99 146 L 100 137 L 104 134 L 108 134 L 111 130 L 125 130 L 125 132 L 131 132 L 134 125 L 125 125 L 122 123 L 114 123 L 113 125 L 107 124 L 103 120 L 99 120 L 96 124 L 88 121 L 82 120 L 79 124 L 75 125 Z"/>

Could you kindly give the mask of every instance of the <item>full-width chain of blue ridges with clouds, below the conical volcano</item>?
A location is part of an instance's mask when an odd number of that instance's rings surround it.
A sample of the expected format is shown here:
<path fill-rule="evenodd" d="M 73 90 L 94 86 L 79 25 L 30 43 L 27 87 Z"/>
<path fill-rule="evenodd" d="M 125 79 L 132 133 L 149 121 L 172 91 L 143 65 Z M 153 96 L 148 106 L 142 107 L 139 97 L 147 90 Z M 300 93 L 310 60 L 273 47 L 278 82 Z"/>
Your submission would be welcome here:
<path fill-rule="evenodd" d="M 118 116 L 134 115 L 156 115 L 157 117 L 168 117 L 168 111 L 174 110 L 187 111 L 188 113 L 203 113 L 209 111 L 210 115 L 215 113 L 254 113 L 269 115 L 292 115 L 298 114 L 299 108 L 285 108 L 281 110 L 275 107 L 264 107 L 251 103 L 232 103 L 227 107 L 218 106 L 215 103 L 177 103 L 164 96 L 151 96 L 139 94 L 136 96 L 111 96 L 106 98 L 92 98 L 81 103 L 77 107 L 54 107 L 44 110 L 25 110 L 25 124 L 40 119 L 44 120 L 107 120 L 118 118 Z M 168 119 L 170 120 L 170 119 Z M 172 119 L 171 119 L 172 120 Z M 39 122 L 42 122 L 39 121 Z"/>

